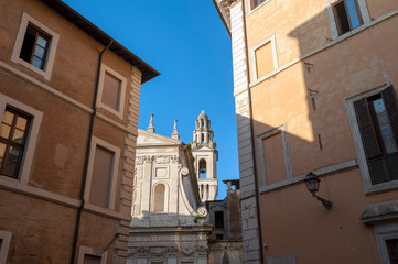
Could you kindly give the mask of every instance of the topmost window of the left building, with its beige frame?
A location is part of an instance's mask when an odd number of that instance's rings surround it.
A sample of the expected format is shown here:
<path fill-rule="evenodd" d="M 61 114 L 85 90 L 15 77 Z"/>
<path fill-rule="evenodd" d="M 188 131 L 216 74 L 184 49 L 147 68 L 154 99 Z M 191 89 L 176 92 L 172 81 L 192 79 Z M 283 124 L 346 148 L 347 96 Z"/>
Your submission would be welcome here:
<path fill-rule="evenodd" d="M 23 13 L 11 61 L 50 79 L 58 40 L 58 34 Z"/>

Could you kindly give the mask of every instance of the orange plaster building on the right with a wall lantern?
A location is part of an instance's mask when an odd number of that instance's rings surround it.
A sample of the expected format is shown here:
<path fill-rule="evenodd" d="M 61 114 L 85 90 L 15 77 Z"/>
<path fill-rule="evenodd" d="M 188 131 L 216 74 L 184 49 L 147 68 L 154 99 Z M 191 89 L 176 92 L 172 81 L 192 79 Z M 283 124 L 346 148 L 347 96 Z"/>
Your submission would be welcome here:
<path fill-rule="evenodd" d="M 232 36 L 245 263 L 397 262 L 398 2 L 213 2 Z"/>

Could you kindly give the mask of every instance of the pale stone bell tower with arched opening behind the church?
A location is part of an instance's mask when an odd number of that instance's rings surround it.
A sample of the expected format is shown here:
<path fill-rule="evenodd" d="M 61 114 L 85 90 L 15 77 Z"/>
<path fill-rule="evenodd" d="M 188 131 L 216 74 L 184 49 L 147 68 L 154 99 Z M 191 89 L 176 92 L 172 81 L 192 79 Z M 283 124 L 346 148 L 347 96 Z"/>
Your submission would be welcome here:
<path fill-rule="evenodd" d="M 211 120 L 202 110 L 193 132 L 192 155 L 202 201 L 215 200 L 217 197 L 217 161 L 218 151 L 213 141 Z"/>

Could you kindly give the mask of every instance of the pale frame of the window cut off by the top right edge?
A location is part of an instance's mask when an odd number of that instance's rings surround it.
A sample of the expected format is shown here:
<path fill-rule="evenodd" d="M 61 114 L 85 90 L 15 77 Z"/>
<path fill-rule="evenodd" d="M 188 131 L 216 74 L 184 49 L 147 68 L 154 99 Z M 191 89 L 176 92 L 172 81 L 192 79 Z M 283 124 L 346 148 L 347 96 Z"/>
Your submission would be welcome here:
<path fill-rule="evenodd" d="M 334 18 L 334 12 L 333 12 L 333 4 L 338 1 L 341 1 L 341 0 L 330 0 L 325 3 L 325 10 L 326 10 L 326 15 L 327 15 L 329 28 L 331 30 L 332 40 L 336 40 L 340 36 L 345 35 L 349 32 L 356 32 L 357 29 L 359 29 L 364 24 L 370 22 L 370 16 L 369 16 L 369 12 L 367 11 L 366 1 L 365 0 L 356 0 L 358 3 L 358 8 L 359 8 L 359 10 L 357 10 L 357 12 L 358 12 L 358 15 L 362 18 L 363 24 L 352 31 L 348 31 L 342 35 L 338 35 L 336 20 Z"/>

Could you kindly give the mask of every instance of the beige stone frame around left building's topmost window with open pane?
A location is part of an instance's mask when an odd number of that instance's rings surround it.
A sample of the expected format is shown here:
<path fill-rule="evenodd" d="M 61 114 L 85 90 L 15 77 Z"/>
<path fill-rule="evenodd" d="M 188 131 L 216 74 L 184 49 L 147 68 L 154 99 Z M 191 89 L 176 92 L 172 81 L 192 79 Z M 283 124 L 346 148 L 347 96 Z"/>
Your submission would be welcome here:
<path fill-rule="evenodd" d="M 22 48 L 22 44 L 23 44 L 23 38 L 26 33 L 28 24 L 33 24 L 34 26 L 36 26 L 37 29 L 40 29 L 41 31 L 43 31 L 44 33 L 46 33 L 47 35 L 51 36 L 51 41 L 49 43 L 50 47 L 47 51 L 44 69 L 40 69 L 36 66 L 20 58 L 20 53 L 21 53 L 21 48 Z M 58 42 L 60 42 L 58 34 L 56 34 L 54 31 L 52 31 L 51 29 L 45 26 L 43 23 L 41 23 L 36 19 L 34 19 L 31 15 L 29 15 L 28 13 L 23 12 L 22 18 L 21 18 L 20 28 L 18 30 L 14 48 L 11 54 L 11 62 L 21 64 L 21 65 L 25 66 L 26 68 L 33 70 L 34 73 L 43 76 L 45 79 L 50 80 L 51 74 L 53 72 L 55 53 L 56 53 L 56 47 L 58 45 Z"/>

